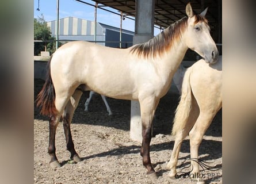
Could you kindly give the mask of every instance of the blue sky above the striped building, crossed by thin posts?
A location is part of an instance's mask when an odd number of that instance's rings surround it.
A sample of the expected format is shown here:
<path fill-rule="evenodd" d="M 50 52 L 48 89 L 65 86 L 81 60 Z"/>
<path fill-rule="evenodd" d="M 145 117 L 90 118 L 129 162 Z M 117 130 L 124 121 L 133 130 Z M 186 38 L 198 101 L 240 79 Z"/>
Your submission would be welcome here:
<path fill-rule="evenodd" d="M 43 14 L 46 21 L 56 20 L 56 0 L 40 0 L 39 9 L 38 1 L 34 0 L 34 18 L 38 18 L 41 14 Z M 83 0 L 90 4 L 94 4 L 94 1 Z M 106 9 L 118 12 L 117 10 L 105 7 Z M 86 20 L 94 21 L 94 7 L 85 5 L 83 3 L 79 3 L 75 0 L 59 0 L 59 18 L 64 17 L 77 17 L 83 18 Z M 116 14 L 109 13 L 108 11 L 104 11 L 101 9 L 97 9 L 97 22 L 101 22 L 103 24 L 108 24 L 111 26 L 120 27 L 120 16 Z M 134 31 L 133 20 L 129 20 L 125 18 L 123 21 L 123 29 Z M 155 34 L 159 33 L 159 29 L 155 29 Z"/>

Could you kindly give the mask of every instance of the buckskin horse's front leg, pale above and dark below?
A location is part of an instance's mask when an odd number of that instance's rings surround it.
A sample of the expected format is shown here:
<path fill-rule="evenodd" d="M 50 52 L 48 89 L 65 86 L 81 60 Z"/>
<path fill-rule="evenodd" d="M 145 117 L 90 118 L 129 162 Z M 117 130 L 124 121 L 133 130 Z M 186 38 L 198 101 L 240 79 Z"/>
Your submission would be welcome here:
<path fill-rule="evenodd" d="M 153 174 L 156 177 L 155 170 L 152 167 L 150 160 L 150 141 L 152 137 L 152 119 L 154 117 L 156 106 L 159 99 L 154 101 L 154 98 L 146 98 L 140 101 L 140 111 L 142 114 L 142 148 L 140 155 L 142 155 L 143 166 L 147 168 L 147 174 Z"/>

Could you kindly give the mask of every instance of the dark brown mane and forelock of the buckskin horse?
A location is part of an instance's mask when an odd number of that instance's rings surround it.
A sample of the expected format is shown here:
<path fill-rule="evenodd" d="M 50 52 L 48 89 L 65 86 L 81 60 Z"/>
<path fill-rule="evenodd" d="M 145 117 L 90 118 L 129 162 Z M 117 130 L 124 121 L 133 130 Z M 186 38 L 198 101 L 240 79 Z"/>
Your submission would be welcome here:
<path fill-rule="evenodd" d="M 207 23 L 207 20 L 200 14 L 195 15 L 195 24 L 199 21 Z M 131 53 L 136 53 L 139 57 L 156 57 L 161 56 L 169 50 L 175 42 L 181 41 L 182 33 L 188 26 L 188 17 L 183 17 L 181 20 L 174 22 L 168 28 L 156 35 L 146 43 L 134 45 L 131 48 Z"/>

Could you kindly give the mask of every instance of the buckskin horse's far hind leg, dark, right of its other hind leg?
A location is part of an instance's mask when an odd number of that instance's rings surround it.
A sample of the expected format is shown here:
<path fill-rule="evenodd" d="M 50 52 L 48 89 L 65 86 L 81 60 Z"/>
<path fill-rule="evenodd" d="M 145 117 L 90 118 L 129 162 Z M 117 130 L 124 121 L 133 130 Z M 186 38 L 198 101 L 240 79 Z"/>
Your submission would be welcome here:
<path fill-rule="evenodd" d="M 73 143 L 72 135 L 70 131 L 70 124 L 82 94 L 83 93 L 81 90 L 75 90 L 75 93 L 71 96 L 70 101 L 68 101 L 66 109 L 64 110 L 64 113 L 63 113 L 63 128 L 64 128 L 64 133 L 65 133 L 66 142 L 67 142 L 67 150 L 70 151 L 70 154 L 71 154 L 70 158 L 75 162 L 81 162 L 81 158 L 79 158 L 74 148 L 74 143 Z"/>

